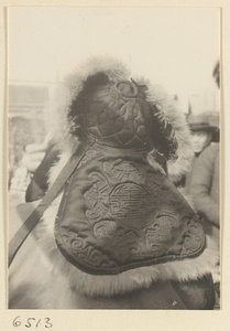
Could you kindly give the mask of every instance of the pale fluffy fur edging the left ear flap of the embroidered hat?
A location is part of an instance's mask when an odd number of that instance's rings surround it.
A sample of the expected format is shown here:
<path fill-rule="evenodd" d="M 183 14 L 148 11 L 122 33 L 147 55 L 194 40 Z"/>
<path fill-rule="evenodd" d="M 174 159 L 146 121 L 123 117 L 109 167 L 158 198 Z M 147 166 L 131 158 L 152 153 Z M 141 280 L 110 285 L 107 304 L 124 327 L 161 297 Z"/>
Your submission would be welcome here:
<path fill-rule="evenodd" d="M 75 71 L 69 73 L 64 82 L 57 87 L 55 104 L 51 111 L 51 130 L 54 140 L 61 150 L 75 150 L 78 139 L 70 131 L 73 124 L 68 120 L 72 102 L 83 89 L 85 81 L 97 73 L 105 72 L 110 82 L 125 81 L 129 77 L 128 68 L 112 57 L 92 57 L 81 63 Z M 55 118 L 55 124 L 54 124 Z"/>

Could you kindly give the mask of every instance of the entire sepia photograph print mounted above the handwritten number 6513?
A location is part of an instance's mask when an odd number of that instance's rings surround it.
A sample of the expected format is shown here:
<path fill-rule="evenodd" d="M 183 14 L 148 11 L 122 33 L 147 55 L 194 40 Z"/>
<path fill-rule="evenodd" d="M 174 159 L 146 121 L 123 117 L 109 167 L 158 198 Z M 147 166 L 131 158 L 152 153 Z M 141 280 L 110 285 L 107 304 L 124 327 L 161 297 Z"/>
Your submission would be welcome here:
<path fill-rule="evenodd" d="M 8 309 L 221 310 L 220 9 L 7 15 Z"/>

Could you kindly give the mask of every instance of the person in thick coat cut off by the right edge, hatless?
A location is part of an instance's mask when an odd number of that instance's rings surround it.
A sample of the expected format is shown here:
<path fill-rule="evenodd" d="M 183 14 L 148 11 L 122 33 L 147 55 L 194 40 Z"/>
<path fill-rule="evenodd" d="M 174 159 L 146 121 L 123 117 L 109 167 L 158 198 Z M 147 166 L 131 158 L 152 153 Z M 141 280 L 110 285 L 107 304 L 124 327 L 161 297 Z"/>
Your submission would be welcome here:
<path fill-rule="evenodd" d="M 219 87 L 219 63 L 216 65 L 212 75 Z M 212 140 L 210 136 L 207 136 L 206 140 L 204 139 L 206 142 L 204 142 L 202 152 L 200 150 L 199 157 L 196 158 L 196 162 L 194 163 L 193 171 L 189 175 L 189 193 L 193 196 L 195 209 L 201 217 L 204 228 L 206 233 L 212 237 L 213 243 L 216 243 L 217 254 L 219 255 L 219 143 L 208 143 L 209 140 Z M 219 305 L 219 264 L 212 271 L 212 278 L 216 287 L 216 305 Z"/>

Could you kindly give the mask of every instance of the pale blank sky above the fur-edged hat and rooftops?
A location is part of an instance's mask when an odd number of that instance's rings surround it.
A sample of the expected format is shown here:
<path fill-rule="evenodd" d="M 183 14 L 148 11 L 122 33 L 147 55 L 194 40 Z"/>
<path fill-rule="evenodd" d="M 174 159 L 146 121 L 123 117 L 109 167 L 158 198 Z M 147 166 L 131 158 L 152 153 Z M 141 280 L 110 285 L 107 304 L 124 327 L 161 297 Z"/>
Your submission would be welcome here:
<path fill-rule="evenodd" d="M 218 8 L 10 8 L 9 81 L 55 82 L 108 54 L 182 99 L 211 104 L 219 23 Z"/>

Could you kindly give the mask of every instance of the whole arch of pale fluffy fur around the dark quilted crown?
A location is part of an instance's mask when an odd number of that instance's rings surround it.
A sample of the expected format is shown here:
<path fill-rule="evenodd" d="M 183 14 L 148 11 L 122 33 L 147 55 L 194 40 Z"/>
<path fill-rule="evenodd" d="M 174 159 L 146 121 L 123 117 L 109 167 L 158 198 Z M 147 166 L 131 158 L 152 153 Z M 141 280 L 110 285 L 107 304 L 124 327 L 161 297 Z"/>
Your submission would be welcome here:
<path fill-rule="evenodd" d="M 143 77 L 135 76 L 120 62 L 111 57 L 94 57 L 81 64 L 64 79 L 58 86 L 55 98 L 56 106 L 51 114 L 53 138 L 61 150 L 75 151 L 78 143 L 76 127 L 79 126 L 69 117 L 73 102 L 84 89 L 86 81 L 94 75 L 103 73 L 110 83 L 133 79 L 139 85 L 147 87 L 146 102 L 157 109 L 155 117 L 162 130 L 168 130 L 168 143 L 174 148 L 173 153 L 166 158 L 168 178 L 178 182 L 189 170 L 193 151 L 189 142 L 189 129 L 185 116 L 178 107 L 174 96 L 169 96 L 161 86 L 153 85 Z M 55 120 L 54 120 L 55 119 Z M 160 151 L 161 152 L 161 151 Z M 149 153 L 149 162 L 155 162 L 154 152 Z"/>

